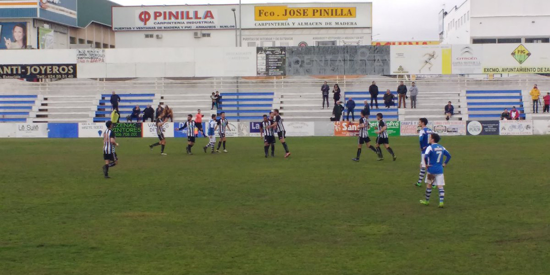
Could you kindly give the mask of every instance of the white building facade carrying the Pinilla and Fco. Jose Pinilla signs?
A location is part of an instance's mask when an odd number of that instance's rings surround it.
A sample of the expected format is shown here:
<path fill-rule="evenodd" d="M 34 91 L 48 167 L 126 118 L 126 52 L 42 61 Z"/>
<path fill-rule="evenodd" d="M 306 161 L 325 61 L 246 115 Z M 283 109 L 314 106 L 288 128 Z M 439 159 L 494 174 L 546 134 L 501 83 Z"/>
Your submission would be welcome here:
<path fill-rule="evenodd" d="M 118 48 L 371 45 L 372 3 L 113 7 Z"/>

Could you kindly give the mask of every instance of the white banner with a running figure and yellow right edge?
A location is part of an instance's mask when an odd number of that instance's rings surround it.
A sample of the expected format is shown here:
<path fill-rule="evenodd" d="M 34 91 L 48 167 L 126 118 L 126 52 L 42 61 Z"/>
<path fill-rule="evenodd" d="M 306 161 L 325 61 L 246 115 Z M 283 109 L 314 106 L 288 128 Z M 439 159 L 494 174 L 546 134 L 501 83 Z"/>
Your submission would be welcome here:
<path fill-rule="evenodd" d="M 451 46 L 390 46 L 390 72 L 399 74 L 451 74 Z"/>

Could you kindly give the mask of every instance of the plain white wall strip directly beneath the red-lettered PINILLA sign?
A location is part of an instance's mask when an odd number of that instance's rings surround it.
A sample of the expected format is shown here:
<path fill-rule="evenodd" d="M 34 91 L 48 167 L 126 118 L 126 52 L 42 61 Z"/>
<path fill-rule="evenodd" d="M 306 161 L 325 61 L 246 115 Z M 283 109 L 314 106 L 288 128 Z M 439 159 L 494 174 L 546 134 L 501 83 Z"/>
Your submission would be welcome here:
<path fill-rule="evenodd" d="M 194 32 L 201 30 L 179 31 L 117 31 L 117 48 L 170 48 L 170 47 L 234 47 L 235 30 L 202 30 L 210 37 L 195 38 Z M 145 38 L 152 34 L 153 38 Z M 162 38 L 156 38 L 162 35 Z"/>

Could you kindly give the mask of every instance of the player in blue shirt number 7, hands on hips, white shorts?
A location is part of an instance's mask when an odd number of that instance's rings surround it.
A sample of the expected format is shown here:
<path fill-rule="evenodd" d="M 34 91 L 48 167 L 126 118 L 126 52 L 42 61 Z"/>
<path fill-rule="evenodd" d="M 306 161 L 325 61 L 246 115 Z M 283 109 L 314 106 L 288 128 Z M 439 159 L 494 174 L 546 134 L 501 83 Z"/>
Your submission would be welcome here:
<path fill-rule="evenodd" d="M 428 167 L 428 175 L 426 177 L 426 200 L 421 200 L 423 205 L 430 204 L 430 195 L 432 194 L 432 184 L 437 186 L 439 190 L 439 207 L 443 207 L 443 199 L 445 197 L 445 178 L 443 177 L 443 167 L 447 166 L 450 161 L 450 153 L 445 147 L 437 144 L 441 138 L 436 133 L 430 134 L 428 142 L 430 146 L 426 148 L 425 162 Z M 445 161 L 443 162 L 443 156 Z"/>

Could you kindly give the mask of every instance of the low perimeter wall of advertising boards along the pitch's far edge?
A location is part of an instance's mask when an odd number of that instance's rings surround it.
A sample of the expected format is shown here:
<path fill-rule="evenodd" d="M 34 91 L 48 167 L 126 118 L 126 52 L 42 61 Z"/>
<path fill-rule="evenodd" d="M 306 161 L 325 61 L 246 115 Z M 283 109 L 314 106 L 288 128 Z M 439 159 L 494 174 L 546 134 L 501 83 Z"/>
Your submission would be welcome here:
<path fill-rule="evenodd" d="M 417 121 L 388 122 L 389 136 L 416 136 Z M 376 122 L 371 122 L 374 126 Z M 183 122 L 167 123 L 164 135 L 186 138 L 174 131 Z M 258 122 L 230 122 L 228 137 L 260 136 Z M 287 122 L 287 136 L 357 136 L 357 122 Z M 203 124 L 204 127 L 204 124 Z M 458 135 L 548 135 L 550 120 L 457 120 L 433 121 L 428 127 L 445 136 Z M 1 123 L 0 138 L 101 138 L 105 123 Z M 118 123 L 114 128 L 120 138 L 156 138 L 155 123 Z M 195 129 L 197 136 L 202 135 Z M 373 127 L 369 135 L 376 136 Z"/>

